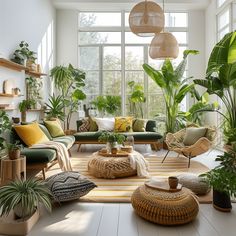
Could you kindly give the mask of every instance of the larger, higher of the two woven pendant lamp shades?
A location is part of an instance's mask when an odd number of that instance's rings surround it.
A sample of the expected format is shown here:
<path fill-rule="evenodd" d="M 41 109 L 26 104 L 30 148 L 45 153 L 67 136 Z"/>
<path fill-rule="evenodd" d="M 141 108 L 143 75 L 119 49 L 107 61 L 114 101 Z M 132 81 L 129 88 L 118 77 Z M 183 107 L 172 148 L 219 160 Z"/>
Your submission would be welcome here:
<path fill-rule="evenodd" d="M 130 12 L 129 26 L 138 36 L 153 36 L 160 33 L 164 25 L 164 12 L 155 2 L 140 2 Z"/>

